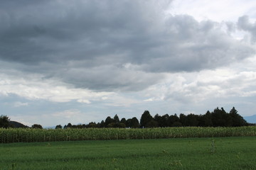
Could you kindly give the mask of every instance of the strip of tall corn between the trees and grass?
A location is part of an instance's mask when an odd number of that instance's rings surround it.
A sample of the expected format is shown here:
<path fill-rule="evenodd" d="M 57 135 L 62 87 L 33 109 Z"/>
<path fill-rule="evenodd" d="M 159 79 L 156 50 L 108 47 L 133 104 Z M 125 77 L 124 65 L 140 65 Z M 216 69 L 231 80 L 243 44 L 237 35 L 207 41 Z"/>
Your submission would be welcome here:
<path fill-rule="evenodd" d="M 85 128 L 85 129 L 4 129 L 0 142 L 52 142 L 73 140 L 139 140 L 181 137 L 256 136 L 256 127 L 239 128 Z"/>

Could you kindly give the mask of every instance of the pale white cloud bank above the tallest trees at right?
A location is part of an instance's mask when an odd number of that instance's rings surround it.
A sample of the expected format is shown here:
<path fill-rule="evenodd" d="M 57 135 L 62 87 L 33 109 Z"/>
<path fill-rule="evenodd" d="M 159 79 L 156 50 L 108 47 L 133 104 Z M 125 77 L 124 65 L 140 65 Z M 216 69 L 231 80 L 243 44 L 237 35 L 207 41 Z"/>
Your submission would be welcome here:
<path fill-rule="evenodd" d="M 252 67 L 255 67 L 255 64 L 248 62 L 255 63 L 255 59 L 254 57 L 240 64 L 215 70 L 169 74 L 166 76 L 168 79 L 144 91 L 145 96 L 150 97 L 145 101 L 197 104 L 207 100 L 218 103 L 215 98 L 233 101 L 235 98 L 254 97 L 256 72 Z M 245 65 L 249 66 L 248 70 L 244 69 L 241 72 L 240 68 Z M 227 101 L 223 101 L 222 104 Z"/>

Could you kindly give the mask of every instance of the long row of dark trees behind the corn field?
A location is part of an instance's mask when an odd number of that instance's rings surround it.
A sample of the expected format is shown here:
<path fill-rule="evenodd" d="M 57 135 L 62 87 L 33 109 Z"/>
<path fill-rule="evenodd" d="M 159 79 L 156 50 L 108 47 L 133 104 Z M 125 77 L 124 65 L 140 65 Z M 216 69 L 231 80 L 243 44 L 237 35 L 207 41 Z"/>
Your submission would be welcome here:
<path fill-rule="evenodd" d="M 114 118 L 108 116 L 100 123 L 91 122 L 87 125 L 72 125 L 68 123 L 62 127 L 57 125 L 55 128 L 165 128 L 165 127 L 239 127 L 247 126 L 249 123 L 238 114 L 238 111 L 233 107 L 229 113 L 223 108 L 215 108 L 213 112 L 207 111 L 204 115 L 184 115 L 181 113 L 178 115 L 159 115 L 154 117 L 149 111 L 144 111 L 140 120 L 136 117 L 119 120 L 118 115 L 114 115 Z"/>

